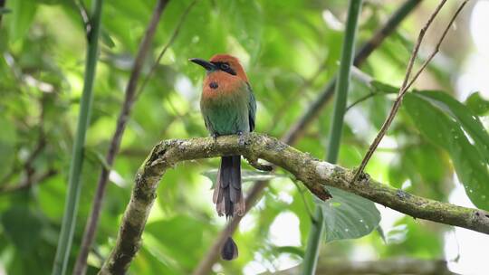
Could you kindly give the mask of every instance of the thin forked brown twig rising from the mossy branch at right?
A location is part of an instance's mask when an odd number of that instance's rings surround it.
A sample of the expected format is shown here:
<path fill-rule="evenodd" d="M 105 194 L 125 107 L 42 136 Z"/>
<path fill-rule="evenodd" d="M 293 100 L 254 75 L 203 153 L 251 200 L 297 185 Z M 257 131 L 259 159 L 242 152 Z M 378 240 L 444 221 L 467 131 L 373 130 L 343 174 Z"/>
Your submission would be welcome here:
<path fill-rule="evenodd" d="M 412 71 L 412 68 L 413 68 L 413 64 L 414 64 L 414 62 L 416 60 L 417 52 L 419 51 L 419 47 L 420 47 L 421 43 L 423 42 L 423 38 L 425 36 L 425 33 L 427 32 L 427 29 L 430 26 L 430 24 L 435 19 L 436 14 L 438 14 L 438 12 L 443 7 L 443 5 L 446 4 L 446 0 L 442 0 L 440 2 L 440 4 L 436 7 L 435 12 L 433 14 L 431 14 L 431 16 L 429 17 L 429 19 L 427 21 L 427 24 L 425 24 L 425 26 L 419 32 L 419 36 L 417 37 L 417 43 L 416 43 L 415 48 L 414 48 L 414 50 L 413 50 L 413 52 L 411 54 L 411 57 L 409 59 L 408 69 L 407 69 L 407 72 L 406 72 L 406 76 L 405 76 L 404 81 L 402 83 L 402 86 L 401 86 L 401 88 L 399 89 L 399 92 L 398 92 L 398 98 L 396 99 L 396 101 L 394 101 L 394 105 L 392 105 L 392 109 L 390 109 L 390 113 L 388 114 L 388 118 L 386 119 L 386 121 L 382 125 L 382 128 L 380 128 L 379 134 L 377 135 L 377 137 L 375 137 L 374 141 L 370 145 L 369 151 L 367 151 L 367 154 L 363 157 L 363 160 L 361 161 L 360 167 L 357 169 L 357 171 L 355 173 L 355 176 L 352 179 L 352 182 L 355 182 L 359 178 L 359 176 L 361 175 L 361 173 L 363 173 L 363 170 L 365 169 L 365 166 L 367 166 L 367 164 L 369 163 L 370 157 L 373 155 L 373 153 L 375 152 L 375 150 L 379 146 L 379 143 L 382 140 L 382 137 L 384 137 L 386 135 L 386 133 L 388 131 L 388 128 L 389 128 L 390 124 L 392 123 L 392 120 L 394 120 L 394 118 L 396 117 L 396 114 L 398 113 L 398 109 L 400 107 L 400 104 L 402 102 L 402 99 L 403 99 L 404 95 L 406 94 L 406 92 L 408 91 L 408 89 L 413 85 L 414 81 L 417 80 L 417 77 L 421 74 L 421 72 L 425 70 L 425 68 L 427 67 L 427 64 L 429 62 L 431 62 L 431 60 L 433 59 L 433 57 L 435 57 L 436 53 L 439 52 L 440 45 L 441 45 L 441 43 L 443 43 L 443 40 L 446 37 L 446 33 L 448 33 L 448 30 L 450 29 L 450 27 L 452 26 L 452 24 L 455 22 L 456 16 L 458 14 L 460 14 L 460 12 L 464 8 L 464 6 L 467 4 L 467 2 L 468 2 L 468 0 L 465 0 L 458 7 L 458 9 L 456 10 L 455 14 L 452 16 L 452 19 L 446 25 L 445 31 L 442 33 L 440 39 L 436 43 L 435 50 L 428 56 L 427 60 L 421 65 L 421 67 L 415 73 L 414 77 L 409 81 L 409 76 L 411 74 L 411 71 Z"/>

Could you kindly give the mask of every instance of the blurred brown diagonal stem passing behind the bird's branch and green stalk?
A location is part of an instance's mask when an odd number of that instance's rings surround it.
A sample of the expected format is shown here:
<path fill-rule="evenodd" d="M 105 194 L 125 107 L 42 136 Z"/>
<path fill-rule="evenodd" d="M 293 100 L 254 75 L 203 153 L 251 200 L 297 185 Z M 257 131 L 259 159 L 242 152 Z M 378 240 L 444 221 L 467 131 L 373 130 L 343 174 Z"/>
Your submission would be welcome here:
<path fill-rule="evenodd" d="M 360 51 L 355 56 L 353 65 L 360 67 L 360 65 L 367 60 L 369 55 L 379 48 L 380 44 L 393 33 L 394 30 L 396 30 L 398 25 L 415 9 L 415 7 L 417 7 L 417 5 L 419 5 L 421 1 L 422 0 L 407 0 L 401 5 L 398 10 L 389 17 L 388 21 L 382 25 L 379 31 L 375 33 L 368 42 L 362 45 Z M 302 117 L 283 135 L 281 140 L 284 143 L 294 145 L 300 137 L 302 137 L 304 129 L 314 121 L 321 109 L 331 99 L 335 83 L 336 77 L 333 77 L 333 79 L 326 84 L 321 95 L 312 102 L 310 107 L 303 113 Z M 267 181 L 258 181 L 254 183 L 252 189 L 248 192 L 245 198 L 245 214 L 254 205 L 254 202 L 258 201 L 267 185 Z M 197 268 L 192 272 L 193 275 L 205 275 L 212 270 L 212 265 L 219 259 L 219 248 L 224 245 L 227 237 L 235 232 L 235 229 L 242 218 L 243 216 L 235 216 L 226 224 L 225 229 L 216 237 L 213 245 L 207 250 L 202 260 L 198 263 Z"/>

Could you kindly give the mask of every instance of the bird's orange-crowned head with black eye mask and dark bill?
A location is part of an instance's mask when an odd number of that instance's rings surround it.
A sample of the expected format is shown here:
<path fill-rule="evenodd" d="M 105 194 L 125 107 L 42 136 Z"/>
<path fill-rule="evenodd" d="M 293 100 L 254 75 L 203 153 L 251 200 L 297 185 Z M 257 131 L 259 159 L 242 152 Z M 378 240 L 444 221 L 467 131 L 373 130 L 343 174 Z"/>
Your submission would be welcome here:
<path fill-rule="evenodd" d="M 210 61 L 200 58 L 191 58 L 189 61 L 204 67 L 207 71 L 207 75 L 219 73 L 225 78 L 239 78 L 242 81 L 248 81 L 243 66 L 241 66 L 239 60 L 232 55 L 216 54 Z"/>

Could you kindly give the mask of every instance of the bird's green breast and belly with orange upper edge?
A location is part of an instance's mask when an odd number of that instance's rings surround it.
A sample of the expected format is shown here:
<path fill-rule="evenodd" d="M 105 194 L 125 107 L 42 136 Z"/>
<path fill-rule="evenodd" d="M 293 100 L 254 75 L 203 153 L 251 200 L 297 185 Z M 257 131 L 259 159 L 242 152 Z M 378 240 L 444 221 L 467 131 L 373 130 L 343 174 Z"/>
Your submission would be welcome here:
<path fill-rule="evenodd" d="M 209 132 L 217 136 L 249 132 L 249 96 L 246 88 L 234 92 L 216 92 L 220 94 L 203 98 L 200 102 Z"/>

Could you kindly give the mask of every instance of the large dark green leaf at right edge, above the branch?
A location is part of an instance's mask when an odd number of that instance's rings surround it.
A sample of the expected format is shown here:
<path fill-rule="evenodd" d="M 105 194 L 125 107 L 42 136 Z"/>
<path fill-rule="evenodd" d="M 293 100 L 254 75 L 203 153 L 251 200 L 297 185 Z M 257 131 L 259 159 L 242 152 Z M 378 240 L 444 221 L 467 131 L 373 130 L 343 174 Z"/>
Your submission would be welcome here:
<path fill-rule="evenodd" d="M 434 100 L 441 97 L 433 94 L 428 97 L 427 94 L 408 93 L 404 99 L 404 108 L 421 134 L 448 152 L 471 201 L 477 207 L 489 210 L 487 156 L 481 154 L 483 148 L 472 145 L 469 140 L 471 137 L 474 142 L 484 143 L 487 133 L 481 132 L 480 122 L 473 119 L 470 112 L 463 114 L 463 110 L 458 109 L 460 106 L 453 102 L 441 104 L 450 100 Z"/>

